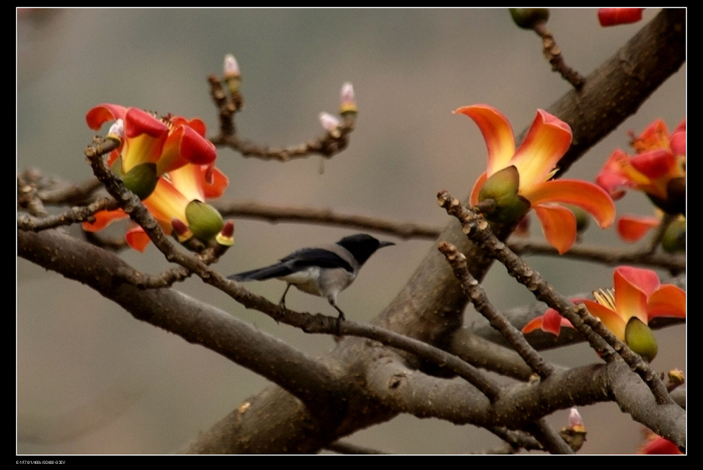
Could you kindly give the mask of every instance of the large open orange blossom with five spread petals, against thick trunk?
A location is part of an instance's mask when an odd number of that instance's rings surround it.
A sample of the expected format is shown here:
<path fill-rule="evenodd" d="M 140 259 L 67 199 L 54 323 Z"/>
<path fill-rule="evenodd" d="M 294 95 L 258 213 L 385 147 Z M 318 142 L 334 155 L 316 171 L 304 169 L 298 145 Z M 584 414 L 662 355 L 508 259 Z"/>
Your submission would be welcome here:
<path fill-rule="evenodd" d="M 562 204 L 573 204 L 591 214 L 602 228 L 615 218 L 607 192 L 588 181 L 551 180 L 557 163 L 569 149 L 569 124 L 544 110 L 537 110 L 527 136 L 515 150 L 508 119 L 489 105 L 460 107 L 455 114 L 470 117 L 479 126 L 488 149 L 488 169 L 474 185 L 470 203 L 493 202 L 482 207 L 490 221 L 519 221 L 534 209 L 547 241 L 563 254 L 576 241 L 576 219 Z"/>

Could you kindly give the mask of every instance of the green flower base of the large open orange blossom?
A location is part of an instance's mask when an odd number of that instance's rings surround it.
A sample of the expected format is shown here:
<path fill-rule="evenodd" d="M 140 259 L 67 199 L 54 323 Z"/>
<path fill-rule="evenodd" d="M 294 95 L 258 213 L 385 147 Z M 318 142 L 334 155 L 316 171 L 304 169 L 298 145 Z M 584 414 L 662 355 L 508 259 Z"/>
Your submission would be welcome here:
<path fill-rule="evenodd" d="M 494 173 L 483 184 L 479 191 L 479 206 L 486 219 L 492 222 L 509 223 L 519 221 L 527 211 L 530 204 L 527 199 L 517 194 L 520 188 L 520 174 L 514 166 Z M 483 202 L 493 201 L 490 204 Z"/>

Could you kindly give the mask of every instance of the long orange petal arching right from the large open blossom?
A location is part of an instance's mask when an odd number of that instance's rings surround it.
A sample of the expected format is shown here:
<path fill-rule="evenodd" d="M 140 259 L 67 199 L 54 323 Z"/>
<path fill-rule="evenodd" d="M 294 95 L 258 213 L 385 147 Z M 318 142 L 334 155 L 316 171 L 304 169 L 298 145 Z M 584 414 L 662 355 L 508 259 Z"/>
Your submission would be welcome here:
<path fill-rule="evenodd" d="M 522 174 L 520 175 L 522 178 Z M 522 182 L 522 180 L 521 180 Z M 533 185 L 520 194 L 534 206 L 549 202 L 574 204 L 591 214 L 601 228 L 615 220 L 615 204 L 610 196 L 593 183 L 580 180 L 553 180 Z"/>

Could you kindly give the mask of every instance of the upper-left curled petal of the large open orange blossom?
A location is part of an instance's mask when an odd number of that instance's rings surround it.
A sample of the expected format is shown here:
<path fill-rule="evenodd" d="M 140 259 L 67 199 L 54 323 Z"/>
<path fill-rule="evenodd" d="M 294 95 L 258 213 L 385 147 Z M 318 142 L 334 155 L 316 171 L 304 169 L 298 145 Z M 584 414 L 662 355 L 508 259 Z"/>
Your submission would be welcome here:
<path fill-rule="evenodd" d="M 488 176 L 510 165 L 515 155 L 515 137 L 501 112 L 489 105 L 472 105 L 460 107 L 454 114 L 470 117 L 479 126 L 488 149 Z"/>

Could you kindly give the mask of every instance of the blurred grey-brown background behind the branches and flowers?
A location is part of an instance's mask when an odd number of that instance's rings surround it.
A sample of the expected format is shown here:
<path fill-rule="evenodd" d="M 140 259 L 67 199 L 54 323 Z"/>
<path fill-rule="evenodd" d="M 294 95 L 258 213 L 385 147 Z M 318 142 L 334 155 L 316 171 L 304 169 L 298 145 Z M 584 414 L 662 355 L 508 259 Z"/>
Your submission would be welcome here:
<path fill-rule="evenodd" d="M 567 63 L 590 73 L 657 10 L 635 25 L 602 28 L 594 9 L 553 9 L 548 22 Z M 214 133 L 217 113 L 207 75 L 221 74 L 233 53 L 243 74 L 240 135 L 285 146 L 321 136 L 318 113 L 337 112 L 340 86 L 352 81 L 359 104 L 349 148 L 281 164 L 219 150 L 230 178 L 225 197 L 269 204 L 330 208 L 398 221 L 449 222 L 435 195 L 465 197 L 486 166 L 475 124 L 451 111 L 488 103 L 520 133 L 538 107 L 569 86 L 543 60 L 541 41 L 513 25 L 505 9 L 71 9 L 20 11 L 17 44 L 17 167 L 80 182 L 91 177 L 83 150 L 93 131 L 85 113 L 119 103 L 200 117 Z M 626 148 L 661 117 L 673 129 L 685 116 L 685 67 L 638 115 L 595 146 L 569 172 L 593 181 L 610 152 Z M 643 195 L 617 203 L 619 214 L 650 214 Z M 77 233 L 75 228 L 71 228 Z M 215 266 L 234 273 L 269 263 L 313 242 L 353 230 L 236 220 L 236 244 Z M 542 240 L 538 224 L 532 235 Z M 395 240 L 366 264 L 340 295 L 347 318 L 373 318 L 399 291 L 434 242 Z M 614 230 L 592 228 L 588 244 L 624 247 Z M 167 263 L 152 246 L 121 256 L 159 273 Z M 527 260 L 564 294 L 612 285 L 612 268 L 553 257 Z M 168 454 L 269 384 L 201 346 L 138 322 L 76 282 L 18 259 L 17 452 L 27 454 Z M 282 282 L 248 285 L 278 301 Z M 485 282 L 498 308 L 531 297 L 494 266 Z M 333 347 L 246 311 L 198 279 L 176 286 L 251 322 L 308 353 Z M 297 291 L 288 306 L 335 314 L 324 299 Z M 466 321 L 477 314 L 467 310 Z M 657 370 L 685 368 L 685 327 L 656 332 Z M 564 365 L 597 362 L 585 346 L 546 353 Z M 583 453 L 634 452 L 641 426 L 612 403 L 581 408 L 588 440 Z M 566 425 L 568 410 L 550 416 Z M 401 416 L 349 436 L 397 453 L 467 453 L 498 445 L 473 426 Z"/>

